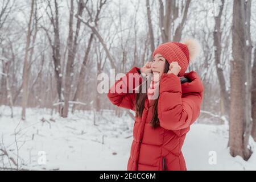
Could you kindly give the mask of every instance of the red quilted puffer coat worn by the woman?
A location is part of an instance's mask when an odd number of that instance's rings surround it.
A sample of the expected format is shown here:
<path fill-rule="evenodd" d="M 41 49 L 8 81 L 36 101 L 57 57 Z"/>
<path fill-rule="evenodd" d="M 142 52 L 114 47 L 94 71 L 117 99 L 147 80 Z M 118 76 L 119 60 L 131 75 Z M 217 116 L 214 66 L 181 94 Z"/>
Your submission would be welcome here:
<path fill-rule="evenodd" d="M 114 105 L 135 110 L 134 88 L 141 84 L 141 75 L 134 76 L 132 93 L 127 85 L 128 74 L 139 74 L 138 69 L 133 67 L 109 89 L 108 98 Z M 181 84 L 174 73 L 162 75 L 158 100 L 160 127 L 155 129 L 150 126 L 152 106 L 146 98 L 142 118 L 135 118 L 127 170 L 187 170 L 181 147 L 190 125 L 199 117 L 204 86 L 195 71 L 185 73 L 184 77 L 191 82 Z M 115 92 L 117 89 L 126 92 Z"/>

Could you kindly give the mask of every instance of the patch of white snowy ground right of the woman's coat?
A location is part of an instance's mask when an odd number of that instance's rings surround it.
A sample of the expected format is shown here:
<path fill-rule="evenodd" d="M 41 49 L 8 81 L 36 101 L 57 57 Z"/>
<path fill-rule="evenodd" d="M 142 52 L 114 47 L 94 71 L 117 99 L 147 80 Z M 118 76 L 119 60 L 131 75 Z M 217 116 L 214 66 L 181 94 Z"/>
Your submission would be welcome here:
<path fill-rule="evenodd" d="M 252 139 L 250 138 L 250 141 Z M 248 162 L 229 154 L 228 127 L 196 124 L 191 126 L 184 142 L 183 153 L 190 170 L 255 170 L 256 155 Z M 255 145 L 255 142 L 253 142 Z M 209 152 L 216 152 L 216 164 L 209 164 Z"/>

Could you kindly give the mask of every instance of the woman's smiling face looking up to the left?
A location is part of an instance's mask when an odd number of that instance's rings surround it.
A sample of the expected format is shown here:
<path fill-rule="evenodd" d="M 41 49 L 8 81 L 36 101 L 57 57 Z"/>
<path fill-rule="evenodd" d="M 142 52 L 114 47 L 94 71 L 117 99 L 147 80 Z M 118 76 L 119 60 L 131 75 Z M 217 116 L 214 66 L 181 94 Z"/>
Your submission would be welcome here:
<path fill-rule="evenodd" d="M 159 77 L 161 77 L 164 72 L 165 63 L 166 63 L 166 59 L 164 59 L 164 57 L 160 55 L 160 53 L 157 53 L 154 57 L 153 63 L 151 64 L 153 75 L 155 73 L 158 73 Z"/>

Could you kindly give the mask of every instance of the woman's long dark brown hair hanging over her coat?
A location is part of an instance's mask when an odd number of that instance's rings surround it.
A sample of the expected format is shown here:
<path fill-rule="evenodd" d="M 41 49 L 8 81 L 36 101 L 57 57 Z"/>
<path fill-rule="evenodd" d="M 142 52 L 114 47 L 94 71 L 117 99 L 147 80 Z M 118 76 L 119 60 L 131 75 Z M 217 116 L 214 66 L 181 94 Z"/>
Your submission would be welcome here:
<path fill-rule="evenodd" d="M 164 72 L 163 73 L 167 73 L 169 71 L 169 66 L 170 66 L 170 64 L 166 60 L 166 63 L 164 65 Z M 146 81 L 146 84 L 148 82 L 150 82 L 150 81 Z M 143 110 L 144 110 L 144 104 L 145 104 L 145 101 L 146 101 L 146 98 L 147 98 L 147 93 L 142 93 L 141 91 L 142 91 L 142 84 L 139 86 L 139 93 L 136 94 L 136 102 L 135 102 L 136 103 L 135 104 L 136 116 L 139 117 L 139 118 L 142 117 L 142 113 L 143 113 Z M 156 127 L 159 126 L 158 99 L 159 99 L 159 97 L 154 101 L 153 110 L 152 110 L 153 117 L 150 121 L 150 125 L 153 128 L 156 128 Z"/>

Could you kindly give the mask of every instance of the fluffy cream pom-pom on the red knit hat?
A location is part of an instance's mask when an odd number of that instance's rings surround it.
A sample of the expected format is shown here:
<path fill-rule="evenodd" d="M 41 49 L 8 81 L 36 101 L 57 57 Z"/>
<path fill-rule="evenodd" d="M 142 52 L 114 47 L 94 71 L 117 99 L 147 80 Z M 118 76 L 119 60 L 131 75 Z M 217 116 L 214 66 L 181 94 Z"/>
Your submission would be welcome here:
<path fill-rule="evenodd" d="M 189 38 L 185 39 L 182 43 L 188 47 L 189 58 L 191 62 L 195 61 L 196 57 L 200 55 L 201 51 L 201 45 L 198 40 Z"/>

